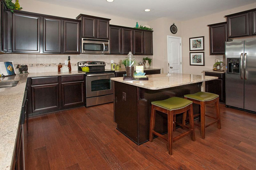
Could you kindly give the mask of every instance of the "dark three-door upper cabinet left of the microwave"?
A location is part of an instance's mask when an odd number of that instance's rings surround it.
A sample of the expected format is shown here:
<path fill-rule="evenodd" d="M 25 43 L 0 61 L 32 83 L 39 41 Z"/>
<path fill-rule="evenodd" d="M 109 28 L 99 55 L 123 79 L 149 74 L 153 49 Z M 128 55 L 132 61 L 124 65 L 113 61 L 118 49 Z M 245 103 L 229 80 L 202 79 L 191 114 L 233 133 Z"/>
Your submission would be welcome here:
<path fill-rule="evenodd" d="M 76 19 L 14 11 L 12 51 L 16 53 L 80 53 L 80 23 Z"/>

